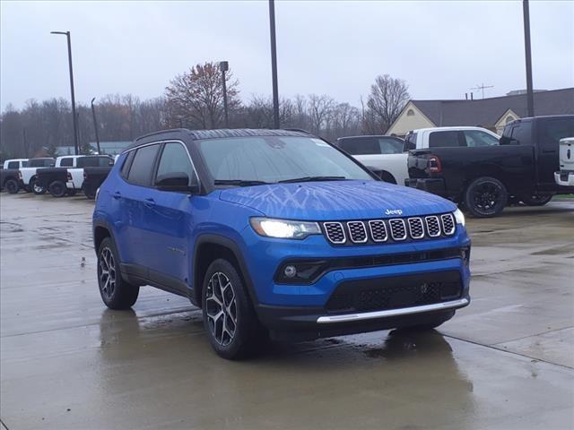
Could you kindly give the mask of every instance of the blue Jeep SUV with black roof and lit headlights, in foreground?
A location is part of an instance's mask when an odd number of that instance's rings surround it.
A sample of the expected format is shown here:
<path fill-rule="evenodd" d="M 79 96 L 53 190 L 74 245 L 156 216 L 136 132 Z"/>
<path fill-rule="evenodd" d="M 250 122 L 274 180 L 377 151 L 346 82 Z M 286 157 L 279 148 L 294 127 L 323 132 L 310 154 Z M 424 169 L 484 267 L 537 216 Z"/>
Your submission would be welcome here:
<path fill-rule="evenodd" d="M 390 185 L 309 133 L 185 129 L 137 139 L 93 213 L 100 294 L 189 297 L 222 357 L 273 339 L 429 329 L 468 305 L 452 202 Z"/>

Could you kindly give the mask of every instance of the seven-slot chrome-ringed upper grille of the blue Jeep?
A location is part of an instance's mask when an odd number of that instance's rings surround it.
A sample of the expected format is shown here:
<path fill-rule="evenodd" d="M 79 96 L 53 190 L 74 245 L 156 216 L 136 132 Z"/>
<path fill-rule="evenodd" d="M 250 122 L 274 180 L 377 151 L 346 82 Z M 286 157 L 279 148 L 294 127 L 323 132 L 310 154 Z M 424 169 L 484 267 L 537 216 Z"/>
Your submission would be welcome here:
<path fill-rule="evenodd" d="M 372 245 L 453 236 L 457 223 L 451 213 L 444 213 L 405 219 L 327 221 L 323 230 L 333 245 Z"/>

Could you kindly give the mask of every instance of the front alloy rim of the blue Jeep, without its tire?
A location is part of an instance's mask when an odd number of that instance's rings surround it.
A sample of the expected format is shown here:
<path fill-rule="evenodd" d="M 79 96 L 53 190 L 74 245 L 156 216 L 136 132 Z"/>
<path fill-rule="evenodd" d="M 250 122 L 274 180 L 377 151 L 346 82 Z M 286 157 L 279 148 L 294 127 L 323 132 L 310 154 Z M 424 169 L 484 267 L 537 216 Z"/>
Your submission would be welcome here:
<path fill-rule="evenodd" d="M 227 347 L 237 328 L 237 302 L 230 279 L 218 271 L 213 273 L 205 297 L 207 323 L 213 339 Z"/>

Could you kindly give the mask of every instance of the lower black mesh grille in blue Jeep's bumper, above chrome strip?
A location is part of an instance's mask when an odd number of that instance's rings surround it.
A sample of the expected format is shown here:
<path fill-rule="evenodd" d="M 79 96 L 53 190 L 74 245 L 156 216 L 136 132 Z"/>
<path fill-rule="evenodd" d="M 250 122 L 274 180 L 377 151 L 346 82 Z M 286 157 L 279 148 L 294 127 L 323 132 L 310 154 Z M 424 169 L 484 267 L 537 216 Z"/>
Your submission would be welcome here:
<path fill-rule="evenodd" d="M 457 272 L 348 281 L 331 295 L 326 310 L 332 313 L 384 311 L 446 302 L 461 295 L 462 284 Z"/>

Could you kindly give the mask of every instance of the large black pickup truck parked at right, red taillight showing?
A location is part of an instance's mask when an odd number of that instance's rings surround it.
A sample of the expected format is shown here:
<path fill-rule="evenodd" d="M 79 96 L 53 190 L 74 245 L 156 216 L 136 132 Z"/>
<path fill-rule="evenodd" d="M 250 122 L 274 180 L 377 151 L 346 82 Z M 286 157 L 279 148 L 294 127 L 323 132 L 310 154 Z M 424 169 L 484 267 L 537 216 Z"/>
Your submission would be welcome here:
<path fill-rule="evenodd" d="M 531 206 L 550 202 L 556 193 L 574 193 L 556 185 L 559 141 L 574 136 L 574 116 L 535 116 L 509 123 L 500 145 L 411 150 L 406 184 L 461 203 L 475 217 L 493 217 L 508 202 Z"/>

